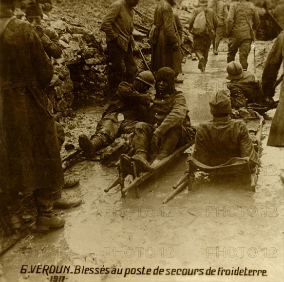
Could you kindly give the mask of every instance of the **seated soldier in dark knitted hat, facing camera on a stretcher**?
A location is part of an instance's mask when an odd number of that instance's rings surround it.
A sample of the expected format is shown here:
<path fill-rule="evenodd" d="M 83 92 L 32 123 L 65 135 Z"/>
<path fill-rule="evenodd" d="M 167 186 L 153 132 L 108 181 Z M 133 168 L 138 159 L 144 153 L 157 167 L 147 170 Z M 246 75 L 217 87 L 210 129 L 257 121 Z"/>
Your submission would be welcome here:
<path fill-rule="evenodd" d="M 152 170 L 161 159 L 171 154 L 195 136 L 191 127 L 186 100 L 181 91 L 175 89 L 175 72 L 163 67 L 156 77 L 156 95 L 149 109 L 147 123 L 135 126 L 132 157 L 144 170 Z M 149 151 L 152 151 L 149 153 Z M 152 166 L 148 157 L 155 158 Z"/>

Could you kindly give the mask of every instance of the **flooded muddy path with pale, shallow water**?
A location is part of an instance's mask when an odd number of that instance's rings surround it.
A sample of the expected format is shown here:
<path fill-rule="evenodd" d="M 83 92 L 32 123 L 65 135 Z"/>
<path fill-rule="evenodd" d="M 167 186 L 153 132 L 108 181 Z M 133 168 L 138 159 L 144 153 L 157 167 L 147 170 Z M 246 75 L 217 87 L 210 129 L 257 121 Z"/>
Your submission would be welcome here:
<path fill-rule="evenodd" d="M 210 119 L 209 99 L 224 87 L 225 53 L 210 54 L 205 74 L 197 61 L 183 65 L 186 94 L 194 124 Z M 270 113 L 270 116 L 273 112 Z M 43 274 L 20 273 L 23 264 L 100 268 L 101 274 L 60 274 L 67 281 L 281 281 L 283 277 L 283 149 L 266 146 L 270 120 L 263 129 L 261 170 L 256 192 L 241 183 L 203 184 L 183 191 L 162 205 L 186 169 L 185 157 L 138 191 L 140 198 L 121 198 L 103 189 L 115 177 L 113 168 L 84 162 L 72 168 L 81 178 L 82 206 L 62 213 L 66 226 L 47 235 L 32 234 L 3 258 L 1 281 L 47 281 Z M 240 177 L 241 178 L 241 177 Z M 240 179 L 241 180 L 241 179 Z M 37 251 L 37 253 L 36 253 Z M 126 268 L 190 269 L 187 275 L 127 275 Z M 268 276 L 205 276 L 200 269 L 266 270 Z M 103 270 L 101 268 L 104 268 Z M 123 274 L 105 274 L 123 268 Z M 190 275 L 192 269 L 199 269 Z M 171 270 L 172 271 L 172 270 Z M 205 271 L 204 271 L 205 272 Z M 142 277 L 143 276 L 143 277 Z M 65 280 L 65 281 L 66 281 Z"/>

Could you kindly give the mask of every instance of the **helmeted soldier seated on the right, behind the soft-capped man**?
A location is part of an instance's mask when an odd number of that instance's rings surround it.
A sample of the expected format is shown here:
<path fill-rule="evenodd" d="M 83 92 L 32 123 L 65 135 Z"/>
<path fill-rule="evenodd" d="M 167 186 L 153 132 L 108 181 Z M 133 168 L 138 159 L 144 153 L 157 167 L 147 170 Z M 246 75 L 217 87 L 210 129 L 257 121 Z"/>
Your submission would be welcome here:
<path fill-rule="evenodd" d="M 249 71 L 243 71 L 239 62 L 230 62 L 227 65 L 228 89 L 231 92 L 232 108 L 238 110 L 239 108 L 247 107 L 247 103 L 261 103 L 262 94 L 259 82 Z"/>

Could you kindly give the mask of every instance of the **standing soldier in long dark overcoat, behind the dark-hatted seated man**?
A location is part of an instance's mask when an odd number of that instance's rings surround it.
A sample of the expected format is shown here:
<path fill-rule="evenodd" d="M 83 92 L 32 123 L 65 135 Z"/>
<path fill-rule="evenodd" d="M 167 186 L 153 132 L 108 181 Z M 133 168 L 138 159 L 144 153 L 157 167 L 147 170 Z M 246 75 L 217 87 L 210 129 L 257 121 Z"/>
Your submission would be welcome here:
<path fill-rule="evenodd" d="M 155 41 L 152 44 L 151 65 L 153 72 L 162 67 L 169 67 L 175 71 L 176 83 L 182 80 L 177 76 L 181 70 L 181 35 L 182 26 L 178 17 L 174 15 L 172 6 L 174 0 L 161 0 L 156 7 L 154 14 L 154 25 L 157 32 Z M 177 22 L 176 22 L 177 21 Z"/>

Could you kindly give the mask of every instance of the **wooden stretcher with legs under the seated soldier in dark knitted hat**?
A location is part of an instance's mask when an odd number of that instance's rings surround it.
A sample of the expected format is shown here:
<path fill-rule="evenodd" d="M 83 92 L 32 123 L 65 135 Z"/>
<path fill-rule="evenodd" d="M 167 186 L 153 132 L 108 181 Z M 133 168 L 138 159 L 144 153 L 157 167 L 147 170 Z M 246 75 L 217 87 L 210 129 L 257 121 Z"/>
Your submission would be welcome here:
<path fill-rule="evenodd" d="M 153 171 L 142 172 L 141 168 L 137 166 L 134 160 L 127 156 L 121 155 L 120 163 L 118 165 L 118 174 L 119 176 L 115 181 L 111 183 L 109 187 L 107 187 L 104 191 L 108 192 L 112 188 L 120 188 L 121 196 L 125 197 L 126 192 L 130 189 L 135 189 L 136 195 L 137 188 L 139 185 L 145 182 L 145 180 L 149 179 L 156 173 L 162 171 L 167 165 L 171 164 L 177 157 L 179 157 L 183 152 L 190 146 L 194 144 L 194 140 L 186 145 L 176 149 L 171 155 L 165 157 L 157 164 Z M 125 178 L 128 175 L 132 175 L 133 180 L 129 185 L 125 184 Z"/>

